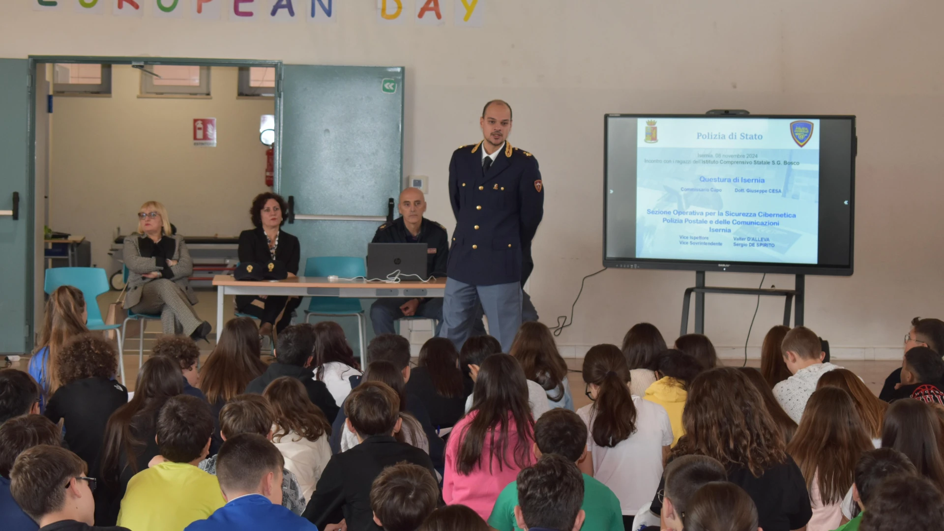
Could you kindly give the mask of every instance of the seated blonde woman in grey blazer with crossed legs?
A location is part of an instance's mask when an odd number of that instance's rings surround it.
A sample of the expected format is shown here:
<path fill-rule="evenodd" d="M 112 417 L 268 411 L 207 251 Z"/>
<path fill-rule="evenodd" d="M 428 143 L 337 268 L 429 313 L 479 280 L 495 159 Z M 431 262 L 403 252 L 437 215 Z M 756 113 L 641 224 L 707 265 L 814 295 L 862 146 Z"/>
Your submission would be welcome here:
<path fill-rule="evenodd" d="M 160 314 L 164 334 L 182 332 L 206 339 L 211 326 L 196 316 L 196 294 L 187 281 L 194 262 L 183 236 L 172 232 L 164 205 L 158 201 L 141 205 L 138 232 L 125 238 L 125 308 L 135 314 Z"/>

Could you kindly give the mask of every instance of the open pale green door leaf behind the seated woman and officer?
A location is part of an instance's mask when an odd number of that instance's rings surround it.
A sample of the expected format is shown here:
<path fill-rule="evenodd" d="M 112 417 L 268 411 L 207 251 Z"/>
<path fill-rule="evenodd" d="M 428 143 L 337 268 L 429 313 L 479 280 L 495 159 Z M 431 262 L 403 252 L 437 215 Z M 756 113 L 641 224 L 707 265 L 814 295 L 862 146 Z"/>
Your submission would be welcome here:
<path fill-rule="evenodd" d="M 300 240 L 302 271 L 313 256 L 366 256 L 391 199 L 398 215 L 403 81 L 400 67 L 283 66 L 275 188 L 294 199 L 295 222 L 284 229 Z M 362 300 L 365 314 L 370 302 Z M 334 320 L 356 355 L 357 320 Z M 366 328 L 369 339 L 369 319 Z"/>

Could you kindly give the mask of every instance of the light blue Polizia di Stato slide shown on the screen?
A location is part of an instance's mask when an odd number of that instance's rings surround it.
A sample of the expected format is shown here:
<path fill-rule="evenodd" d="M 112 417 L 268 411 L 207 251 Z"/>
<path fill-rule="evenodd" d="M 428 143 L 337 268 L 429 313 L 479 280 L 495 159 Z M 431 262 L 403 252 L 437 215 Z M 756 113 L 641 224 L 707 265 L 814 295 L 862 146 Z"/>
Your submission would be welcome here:
<path fill-rule="evenodd" d="M 635 257 L 817 264 L 819 120 L 636 120 Z"/>

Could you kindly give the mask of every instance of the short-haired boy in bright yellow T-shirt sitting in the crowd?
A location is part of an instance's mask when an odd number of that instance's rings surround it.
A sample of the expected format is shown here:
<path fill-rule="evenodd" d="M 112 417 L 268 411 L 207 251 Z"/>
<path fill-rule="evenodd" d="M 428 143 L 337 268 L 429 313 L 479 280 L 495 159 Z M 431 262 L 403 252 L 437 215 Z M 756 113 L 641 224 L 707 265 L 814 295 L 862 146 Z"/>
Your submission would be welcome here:
<path fill-rule="evenodd" d="M 216 476 L 196 468 L 210 451 L 210 405 L 177 395 L 160 408 L 157 442 L 165 462 L 127 484 L 118 525 L 134 531 L 177 531 L 226 504 Z"/>

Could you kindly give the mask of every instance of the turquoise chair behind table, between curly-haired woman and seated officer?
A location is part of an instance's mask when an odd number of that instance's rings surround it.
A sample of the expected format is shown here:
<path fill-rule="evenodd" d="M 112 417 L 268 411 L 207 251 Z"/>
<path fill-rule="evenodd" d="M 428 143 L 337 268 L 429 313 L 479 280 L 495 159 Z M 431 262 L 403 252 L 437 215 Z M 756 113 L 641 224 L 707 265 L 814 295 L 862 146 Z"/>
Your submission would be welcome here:
<path fill-rule="evenodd" d="M 337 275 L 342 279 L 367 276 L 367 267 L 363 258 L 356 256 L 315 256 L 305 261 L 306 277 L 329 277 Z M 305 310 L 305 322 L 311 322 L 311 317 L 357 317 L 358 344 L 361 346 L 361 366 L 363 367 L 364 352 L 367 351 L 365 337 L 367 335 L 367 317 L 364 316 L 360 299 L 346 299 L 341 297 L 312 297 L 312 302 Z"/>

